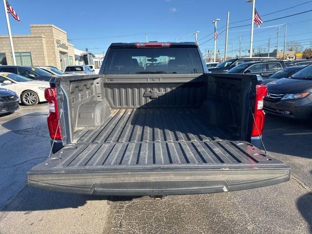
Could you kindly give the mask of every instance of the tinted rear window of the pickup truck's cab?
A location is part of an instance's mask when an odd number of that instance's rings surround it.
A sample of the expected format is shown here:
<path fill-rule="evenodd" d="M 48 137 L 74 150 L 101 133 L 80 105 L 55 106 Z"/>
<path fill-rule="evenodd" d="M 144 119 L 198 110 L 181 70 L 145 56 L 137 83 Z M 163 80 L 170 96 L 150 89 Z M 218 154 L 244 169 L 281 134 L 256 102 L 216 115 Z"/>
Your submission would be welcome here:
<path fill-rule="evenodd" d="M 104 74 L 204 73 L 197 48 L 113 48 Z"/>

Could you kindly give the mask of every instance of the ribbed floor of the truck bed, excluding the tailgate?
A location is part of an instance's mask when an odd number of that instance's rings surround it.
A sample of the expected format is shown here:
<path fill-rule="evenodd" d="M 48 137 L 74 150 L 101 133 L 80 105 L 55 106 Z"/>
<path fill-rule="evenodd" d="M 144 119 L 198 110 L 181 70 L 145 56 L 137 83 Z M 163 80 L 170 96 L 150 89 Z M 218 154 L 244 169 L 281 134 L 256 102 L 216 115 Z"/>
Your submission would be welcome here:
<path fill-rule="evenodd" d="M 119 109 L 98 129 L 75 131 L 75 142 L 235 140 L 231 128 L 209 126 L 197 109 Z"/>

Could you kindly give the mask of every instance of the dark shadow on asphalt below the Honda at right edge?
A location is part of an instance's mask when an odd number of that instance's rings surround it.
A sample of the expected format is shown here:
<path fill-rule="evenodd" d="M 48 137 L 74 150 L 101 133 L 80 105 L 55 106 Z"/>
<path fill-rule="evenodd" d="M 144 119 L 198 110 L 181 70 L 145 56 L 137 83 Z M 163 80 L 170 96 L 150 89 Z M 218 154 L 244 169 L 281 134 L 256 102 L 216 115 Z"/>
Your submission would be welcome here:
<path fill-rule="evenodd" d="M 308 123 L 267 114 L 263 135 L 267 151 L 312 158 L 312 126 Z"/>

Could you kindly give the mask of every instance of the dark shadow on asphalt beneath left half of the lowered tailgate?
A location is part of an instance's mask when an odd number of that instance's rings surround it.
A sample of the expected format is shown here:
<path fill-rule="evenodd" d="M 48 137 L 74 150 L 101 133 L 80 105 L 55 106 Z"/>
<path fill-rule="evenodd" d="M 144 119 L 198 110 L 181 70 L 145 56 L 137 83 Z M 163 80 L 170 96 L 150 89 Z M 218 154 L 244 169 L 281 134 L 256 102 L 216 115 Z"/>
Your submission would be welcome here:
<path fill-rule="evenodd" d="M 78 195 L 68 193 L 51 192 L 25 186 L 24 189 L 2 212 L 8 211 L 43 211 L 65 208 L 78 208 L 92 200 L 107 200 L 111 202 L 131 201 L 138 197 L 131 196 L 99 196 Z"/>

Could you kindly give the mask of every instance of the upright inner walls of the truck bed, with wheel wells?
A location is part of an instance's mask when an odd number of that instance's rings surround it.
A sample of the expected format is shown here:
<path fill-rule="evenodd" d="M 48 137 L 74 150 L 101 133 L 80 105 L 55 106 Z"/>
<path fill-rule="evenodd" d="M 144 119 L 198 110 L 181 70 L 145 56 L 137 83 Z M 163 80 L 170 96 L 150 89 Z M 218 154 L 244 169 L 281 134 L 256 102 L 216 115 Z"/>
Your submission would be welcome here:
<path fill-rule="evenodd" d="M 120 108 L 199 108 L 208 123 L 231 126 L 241 140 L 250 140 L 249 75 L 93 75 L 57 80 L 67 100 L 67 106 L 62 103 L 67 109 L 63 125 L 70 125 L 66 143 L 72 142 L 77 129 L 101 126 L 113 109 Z"/>

